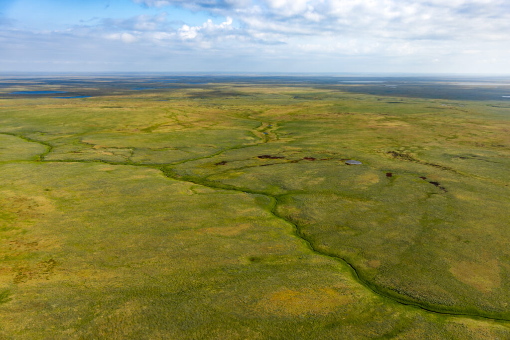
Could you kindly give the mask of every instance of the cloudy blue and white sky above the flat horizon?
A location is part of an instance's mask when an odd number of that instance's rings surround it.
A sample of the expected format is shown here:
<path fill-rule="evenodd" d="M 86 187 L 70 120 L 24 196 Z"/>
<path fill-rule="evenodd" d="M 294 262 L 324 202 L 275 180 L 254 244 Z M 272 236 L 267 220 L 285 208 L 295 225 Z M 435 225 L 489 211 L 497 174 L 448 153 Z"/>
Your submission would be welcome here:
<path fill-rule="evenodd" d="M 509 0 L 0 0 L 0 71 L 510 74 Z"/>

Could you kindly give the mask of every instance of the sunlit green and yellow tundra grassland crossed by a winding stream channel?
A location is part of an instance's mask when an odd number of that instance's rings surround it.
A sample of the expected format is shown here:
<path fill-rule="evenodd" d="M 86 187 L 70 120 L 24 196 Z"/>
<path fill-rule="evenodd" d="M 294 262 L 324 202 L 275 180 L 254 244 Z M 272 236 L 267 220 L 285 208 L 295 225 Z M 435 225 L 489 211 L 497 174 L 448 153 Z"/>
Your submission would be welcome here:
<path fill-rule="evenodd" d="M 510 338 L 508 101 L 20 89 L 1 338 Z"/>

